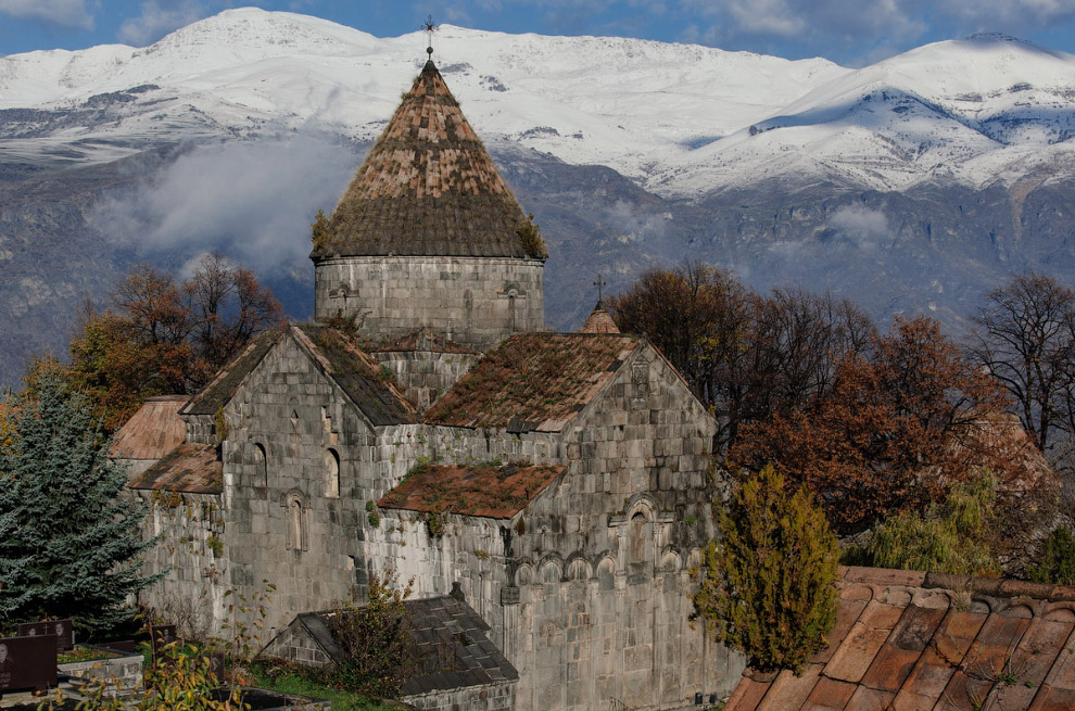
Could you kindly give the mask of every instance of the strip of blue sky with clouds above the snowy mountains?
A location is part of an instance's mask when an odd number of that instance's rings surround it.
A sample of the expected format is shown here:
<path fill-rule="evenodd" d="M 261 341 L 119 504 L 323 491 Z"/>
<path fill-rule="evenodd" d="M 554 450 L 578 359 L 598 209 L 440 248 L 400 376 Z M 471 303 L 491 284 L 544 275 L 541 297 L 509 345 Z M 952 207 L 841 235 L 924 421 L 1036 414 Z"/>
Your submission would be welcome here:
<path fill-rule="evenodd" d="M 1075 0 L 0 0 L 0 55 L 144 46 L 245 4 L 315 15 L 380 37 L 414 31 L 432 13 L 478 29 L 697 42 L 847 65 L 976 31 L 1075 52 Z"/>

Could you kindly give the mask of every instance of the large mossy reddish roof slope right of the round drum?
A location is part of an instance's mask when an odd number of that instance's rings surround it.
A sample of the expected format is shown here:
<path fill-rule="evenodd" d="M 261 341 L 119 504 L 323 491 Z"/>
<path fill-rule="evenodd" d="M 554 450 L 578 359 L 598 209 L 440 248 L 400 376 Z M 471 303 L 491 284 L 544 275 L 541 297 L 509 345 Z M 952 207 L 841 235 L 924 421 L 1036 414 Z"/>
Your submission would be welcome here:
<path fill-rule="evenodd" d="M 597 333 L 520 333 L 464 376 L 426 421 L 510 432 L 558 432 L 616 373 L 640 341 Z"/>

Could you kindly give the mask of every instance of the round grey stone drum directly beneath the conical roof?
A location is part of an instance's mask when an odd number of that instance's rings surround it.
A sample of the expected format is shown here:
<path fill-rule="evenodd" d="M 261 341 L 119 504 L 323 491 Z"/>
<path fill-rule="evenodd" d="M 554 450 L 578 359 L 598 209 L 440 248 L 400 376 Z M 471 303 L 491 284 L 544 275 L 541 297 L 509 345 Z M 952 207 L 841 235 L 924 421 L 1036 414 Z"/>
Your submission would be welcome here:
<path fill-rule="evenodd" d="M 314 316 L 366 315 L 383 343 L 429 327 L 488 351 L 545 326 L 544 263 L 493 257 L 340 257 L 315 268 Z"/>

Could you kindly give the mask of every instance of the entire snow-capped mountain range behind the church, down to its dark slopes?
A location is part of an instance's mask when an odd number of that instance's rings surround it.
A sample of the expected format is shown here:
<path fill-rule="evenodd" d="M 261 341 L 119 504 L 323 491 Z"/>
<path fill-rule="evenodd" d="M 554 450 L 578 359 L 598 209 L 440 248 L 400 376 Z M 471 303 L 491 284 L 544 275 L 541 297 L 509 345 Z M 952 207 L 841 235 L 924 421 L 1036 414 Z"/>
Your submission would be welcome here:
<path fill-rule="evenodd" d="M 220 249 L 312 310 L 330 211 L 425 60 L 241 10 L 137 49 L 0 58 L 0 383 L 150 261 Z M 683 259 L 959 329 L 1011 271 L 1075 277 L 1075 59 L 1006 37 L 861 69 L 620 38 L 446 27 L 434 59 L 551 246 L 576 327 Z"/>

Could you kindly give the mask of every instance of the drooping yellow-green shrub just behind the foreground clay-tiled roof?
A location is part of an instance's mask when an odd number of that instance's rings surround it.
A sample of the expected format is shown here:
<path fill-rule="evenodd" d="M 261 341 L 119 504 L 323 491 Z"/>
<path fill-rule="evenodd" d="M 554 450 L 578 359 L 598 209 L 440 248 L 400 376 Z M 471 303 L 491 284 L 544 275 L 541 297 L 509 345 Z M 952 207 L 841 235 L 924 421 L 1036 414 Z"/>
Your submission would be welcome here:
<path fill-rule="evenodd" d="M 996 480 L 982 473 L 954 486 L 944 506 L 889 518 L 867 547 L 868 563 L 959 575 L 998 574 L 1000 566 L 984 541 L 995 490 Z"/>

